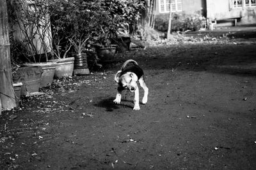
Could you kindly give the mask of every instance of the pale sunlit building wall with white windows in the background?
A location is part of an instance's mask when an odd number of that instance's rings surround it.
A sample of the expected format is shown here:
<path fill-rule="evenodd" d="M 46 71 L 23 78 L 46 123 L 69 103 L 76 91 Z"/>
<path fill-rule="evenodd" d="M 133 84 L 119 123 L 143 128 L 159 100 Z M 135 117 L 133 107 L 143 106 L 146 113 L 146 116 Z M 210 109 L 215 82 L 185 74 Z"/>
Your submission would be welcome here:
<path fill-rule="evenodd" d="M 188 15 L 199 12 L 217 24 L 230 25 L 234 19 L 237 25 L 256 24 L 256 0 L 156 0 L 156 18 L 166 20 L 170 10 Z"/>

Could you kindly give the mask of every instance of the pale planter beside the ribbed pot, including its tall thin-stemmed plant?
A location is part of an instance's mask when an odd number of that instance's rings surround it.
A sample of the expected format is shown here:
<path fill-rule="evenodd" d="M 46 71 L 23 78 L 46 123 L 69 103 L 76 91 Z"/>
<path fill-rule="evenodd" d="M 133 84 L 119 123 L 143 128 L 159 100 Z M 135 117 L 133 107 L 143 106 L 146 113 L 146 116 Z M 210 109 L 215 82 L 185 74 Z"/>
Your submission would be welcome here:
<path fill-rule="evenodd" d="M 67 11 L 63 9 L 63 3 L 58 0 L 49 1 L 48 8 L 51 18 L 52 53 L 54 54 L 54 59 L 49 60 L 49 62 L 56 62 L 54 78 L 72 76 L 74 71 L 75 58 L 70 54 L 72 43 L 65 31 L 69 20 L 66 18 Z"/>

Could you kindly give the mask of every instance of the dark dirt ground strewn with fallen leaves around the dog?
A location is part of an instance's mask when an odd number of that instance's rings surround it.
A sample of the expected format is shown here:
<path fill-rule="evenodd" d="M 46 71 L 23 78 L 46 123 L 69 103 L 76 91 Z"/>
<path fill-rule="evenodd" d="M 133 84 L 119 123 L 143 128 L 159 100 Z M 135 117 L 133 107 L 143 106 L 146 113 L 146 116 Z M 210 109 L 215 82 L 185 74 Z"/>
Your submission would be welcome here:
<path fill-rule="evenodd" d="M 102 71 L 56 80 L 0 116 L 0 169 L 255 169 L 256 36 L 248 37 L 131 50 Z M 126 59 L 145 72 L 139 111 L 130 92 L 113 103 Z"/>

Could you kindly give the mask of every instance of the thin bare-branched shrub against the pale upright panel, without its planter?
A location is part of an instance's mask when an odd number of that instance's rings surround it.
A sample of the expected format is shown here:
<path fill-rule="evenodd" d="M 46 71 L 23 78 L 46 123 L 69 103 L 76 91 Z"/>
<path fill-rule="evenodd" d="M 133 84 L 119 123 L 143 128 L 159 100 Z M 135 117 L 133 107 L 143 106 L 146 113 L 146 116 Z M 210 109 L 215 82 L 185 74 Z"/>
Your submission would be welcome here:
<path fill-rule="evenodd" d="M 18 0 L 13 3 L 17 19 L 15 39 L 26 49 L 24 56 L 29 62 L 40 62 L 43 55 L 48 60 L 48 53 L 52 51 L 48 6 L 44 0 Z"/>

